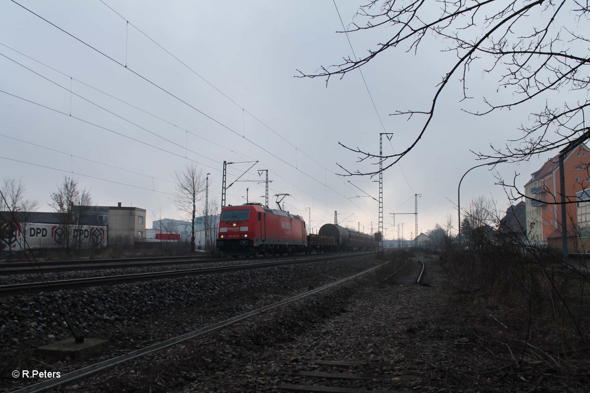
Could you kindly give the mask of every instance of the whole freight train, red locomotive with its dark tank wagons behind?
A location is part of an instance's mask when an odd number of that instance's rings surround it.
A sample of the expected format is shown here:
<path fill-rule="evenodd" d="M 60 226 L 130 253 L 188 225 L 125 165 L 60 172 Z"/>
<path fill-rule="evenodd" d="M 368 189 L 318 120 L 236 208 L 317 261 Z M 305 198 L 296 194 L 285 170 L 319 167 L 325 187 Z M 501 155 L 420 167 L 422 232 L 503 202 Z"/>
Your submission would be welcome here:
<path fill-rule="evenodd" d="M 335 224 L 324 224 L 317 235 L 307 235 L 301 216 L 246 203 L 221 208 L 216 247 L 222 255 L 281 255 L 369 250 L 376 242 Z"/>

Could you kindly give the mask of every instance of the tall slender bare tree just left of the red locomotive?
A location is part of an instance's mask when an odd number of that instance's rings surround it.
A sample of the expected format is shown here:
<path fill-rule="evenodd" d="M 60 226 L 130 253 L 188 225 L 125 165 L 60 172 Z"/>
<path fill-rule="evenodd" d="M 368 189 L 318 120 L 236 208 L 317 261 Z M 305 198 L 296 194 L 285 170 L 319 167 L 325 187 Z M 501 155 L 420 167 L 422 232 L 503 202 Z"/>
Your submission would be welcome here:
<path fill-rule="evenodd" d="M 172 199 L 176 210 L 191 222 L 191 253 L 195 252 L 195 217 L 196 205 L 201 200 L 201 194 L 205 190 L 205 179 L 203 173 L 196 165 L 186 166 L 174 173 L 175 193 Z"/>

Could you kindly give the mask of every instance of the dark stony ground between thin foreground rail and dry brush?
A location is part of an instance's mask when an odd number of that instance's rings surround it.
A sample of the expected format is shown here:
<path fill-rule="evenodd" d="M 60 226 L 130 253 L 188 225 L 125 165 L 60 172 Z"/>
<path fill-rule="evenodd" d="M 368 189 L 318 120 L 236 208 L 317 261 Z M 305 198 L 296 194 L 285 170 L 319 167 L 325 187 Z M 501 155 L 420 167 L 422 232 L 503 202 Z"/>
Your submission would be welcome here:
<path fill-rule="evenodd" d="M 523 337 L 516 329 L 490 317 L 493 311 L 473 309 L 453 293 L 438 262 L 427 262 L 426 285 L 381 282 L 399 266 L 392 263 L 375 275 L 137 358 L 61 391 L 262 393 L 279 392 L 281 384 L 387 392 L 590 391 L 587 359 L 550 358 L 555 348 L 542 348 L 535 341 L 530 344 L 536 346 L 523 350 Z M 224 315 L 304 292 L 336 275 L 294 281 L 289 289 L 281 283 L 264 295 L 237 292 L 234 298 L 206 305 L 204 315 L 219 321 Z M 189 325 L 198 328 L 203 321 L 195 319 L 196 309 L 201 308 L 189 306 L 152 318 L 153 329 L 143 334 L 170 332 L 182 321 L 185 331 L 191 330 Z M 316 361 L 357 364 L 342 368 Z M 63 371 L 68 365 L 53 366 Z M 372 377 L 327 379 L 301 372 Z"/>

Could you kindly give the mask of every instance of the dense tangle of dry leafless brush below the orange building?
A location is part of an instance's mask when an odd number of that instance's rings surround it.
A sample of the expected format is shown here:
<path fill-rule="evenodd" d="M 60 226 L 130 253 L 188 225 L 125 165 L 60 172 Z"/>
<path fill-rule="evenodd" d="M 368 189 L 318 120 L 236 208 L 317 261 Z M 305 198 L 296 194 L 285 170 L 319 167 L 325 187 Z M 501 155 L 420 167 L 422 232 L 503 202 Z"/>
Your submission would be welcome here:
<path fill-rule="evenodd" d="M 565 269 L 562 257 L 549 250 L 510 236 L 488 240 L 476 251 L 450 252 L 455 293 L 523 342 L 537 339 L 562 355 L 588 348 L 590 294 L 580 263 Z"/>

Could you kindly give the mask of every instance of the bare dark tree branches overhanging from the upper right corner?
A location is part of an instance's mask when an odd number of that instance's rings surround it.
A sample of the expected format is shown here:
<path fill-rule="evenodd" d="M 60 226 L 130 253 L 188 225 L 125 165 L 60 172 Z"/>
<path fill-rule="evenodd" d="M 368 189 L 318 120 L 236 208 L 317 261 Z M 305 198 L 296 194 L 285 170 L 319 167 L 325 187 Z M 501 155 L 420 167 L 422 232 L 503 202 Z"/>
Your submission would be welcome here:
<path fill-rule="evenodd" d="M 366 23 L 350 24 L 345 29 L 346 34 L 375 29 L 382 31 L 388 39 L 376 45 L 375 49 L 369 49 L 364 57 L 345 58 L 340 64 L 321 67 L 314 74 L 300 71 L 301 77 L 325 77 L 327 84 L 333 75 L 342 78 L 388 49 L 425 49 L 425 45 L 421 44 L 427 35 L 438 38 L 436 42 L 444 45 L 440 47 L 441 51 L 457 55 L 457 60 L 442 72 L 442 80 L 433 89 L 424 108 L 396 110 L 393 113 L 424 118 L 414 141 L 403 151 L 384 157 L 340 143 L 360 154 L 358 162 L 383 160 L 383 170 L 386 170 L 408 154 L 425 136 L 434 117 L 438 97 L 452 78 L 463 84 L 461 101 L 466 102 L 476 94 L 482 97 L 483 107 L 479 110 L 462 108 L 474 115 L 510 110 L 523 103 L 537 105 L 533 107 L 530 123 L 520 125 L 520 136 L 514 136 L 504 147 L 491 146 L 490 152 L 477 153 L 478 158 L 527 160 L 534 154 L 567 146 L 589 131 L 584 116 L 590 105 L 590 97 L 586 94 L 590 72 L 588 67 L 584 67 L 590 64 L 588 1 L 371 0 L 360 7 L 357 16 Z M 432 41 L 428 41 L 430 45 Z M 470 86 L 470 71 L 481 68 L 484 77 L 494 78 L 493 83 L 497 86 L 494 93 L 476 91 L 474 86 Z M 479 73 L 477 77 L 480 77 Z M 379 173 L 379 170 L 349 171 L 340 167 L 345 171 L 343 176 Z"/>

